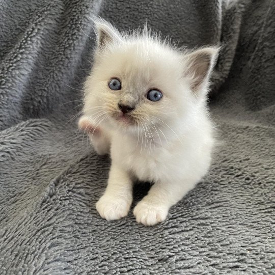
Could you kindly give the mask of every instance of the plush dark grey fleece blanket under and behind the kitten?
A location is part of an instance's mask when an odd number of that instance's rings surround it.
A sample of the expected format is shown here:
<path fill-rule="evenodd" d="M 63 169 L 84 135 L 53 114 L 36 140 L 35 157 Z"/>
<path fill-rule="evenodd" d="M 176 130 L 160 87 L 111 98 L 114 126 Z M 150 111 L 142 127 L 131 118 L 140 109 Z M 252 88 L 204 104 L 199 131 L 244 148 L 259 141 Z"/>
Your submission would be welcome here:
<path fill-rule="evenodd" d="M 211 170 L 155 227 L 95 210 L 110 163 L 76 125 L 94 15 L 222 45 Z M 0 17 L 0 274 L 275 274 L 273 0 L 2 0 Z"/>

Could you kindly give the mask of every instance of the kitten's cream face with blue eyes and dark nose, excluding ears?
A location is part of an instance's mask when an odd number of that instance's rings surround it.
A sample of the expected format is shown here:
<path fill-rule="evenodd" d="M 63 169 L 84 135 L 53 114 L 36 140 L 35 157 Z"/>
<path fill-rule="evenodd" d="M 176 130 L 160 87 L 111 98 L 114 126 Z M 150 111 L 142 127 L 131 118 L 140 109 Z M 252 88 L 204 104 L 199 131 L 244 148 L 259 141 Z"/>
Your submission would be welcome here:
<path fill-rule="evenodd" d="M 106 52 L 86 82 L 85 112 L 95 117 L 101 111 L 102 119 L 105 114 L 106 120 L 130 129 L 176 119 L 189 99 L 172 59 L 142 44 Z"/>

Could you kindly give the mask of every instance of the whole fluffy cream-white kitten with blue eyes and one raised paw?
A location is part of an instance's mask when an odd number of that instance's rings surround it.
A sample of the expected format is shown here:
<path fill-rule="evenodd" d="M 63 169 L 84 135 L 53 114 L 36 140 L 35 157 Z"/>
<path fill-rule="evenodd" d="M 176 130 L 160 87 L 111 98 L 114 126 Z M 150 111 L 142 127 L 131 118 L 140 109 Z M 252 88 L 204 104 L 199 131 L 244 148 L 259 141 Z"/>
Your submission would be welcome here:
<path fill-rule="evenodd" d="M 108 221 L 126 216 L 133 181 L 150 181 L 133 214 L 153 226 L 209 169 L 214 139 L 206 101 L 218 50 L 182 52 L 146 28 L 119 33 L 102 19 L 95 27 L 94 66 L 79 127 L 88 129 L 98 154 L 111 154 L 96 209 Z"/>

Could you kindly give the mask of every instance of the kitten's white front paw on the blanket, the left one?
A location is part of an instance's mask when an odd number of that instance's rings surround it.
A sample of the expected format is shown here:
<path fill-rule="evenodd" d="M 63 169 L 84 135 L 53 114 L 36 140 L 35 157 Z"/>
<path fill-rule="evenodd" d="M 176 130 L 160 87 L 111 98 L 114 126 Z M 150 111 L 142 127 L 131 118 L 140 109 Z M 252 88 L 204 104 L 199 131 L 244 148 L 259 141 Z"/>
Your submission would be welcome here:
<path fill-rule="evenodd" d="M 132 201 L 103 195 L 96 203 L 96 210 L 107 221 L 127 216 Z"/>

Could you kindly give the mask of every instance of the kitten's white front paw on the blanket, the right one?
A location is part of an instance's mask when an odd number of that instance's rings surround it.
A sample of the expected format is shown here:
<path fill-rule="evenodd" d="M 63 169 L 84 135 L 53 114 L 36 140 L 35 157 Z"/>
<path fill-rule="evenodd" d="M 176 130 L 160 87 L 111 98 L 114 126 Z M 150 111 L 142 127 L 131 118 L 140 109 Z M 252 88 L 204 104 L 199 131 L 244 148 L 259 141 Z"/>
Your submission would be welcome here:
<path fill-rule="evenodd" d="M 166 219 L 168 210 L 166 206 L 154 205 L 141 201 L 135 206 L 133 214 L 137 223 L 141 223 L 145 226 L 153 226 Z"/>

